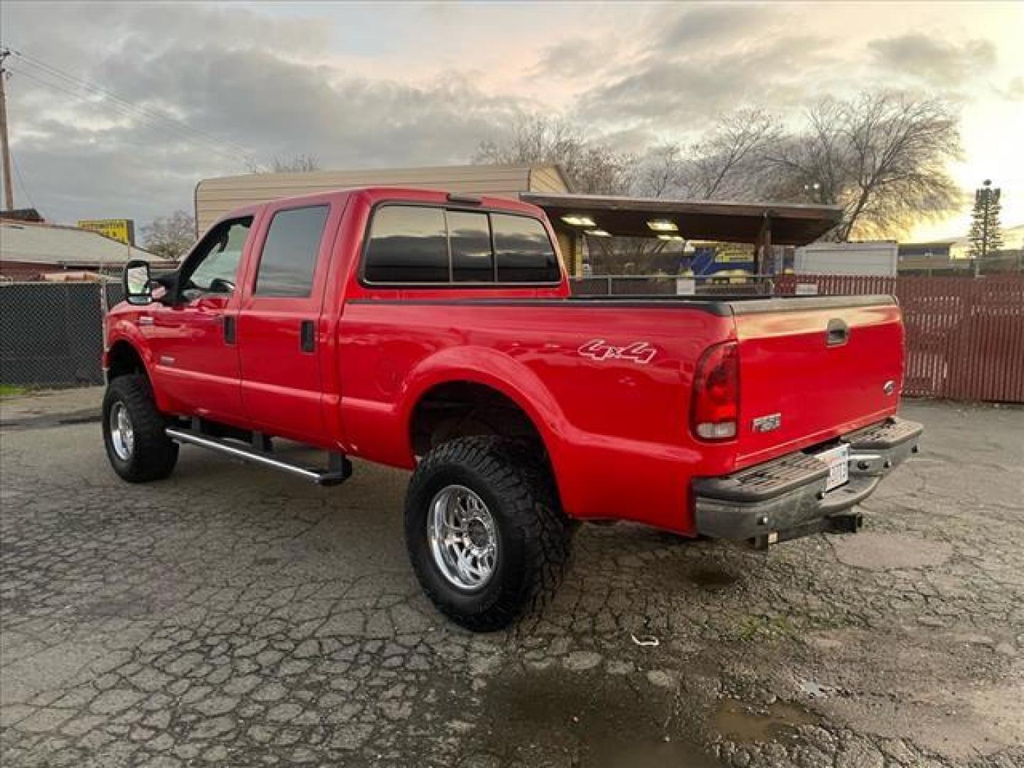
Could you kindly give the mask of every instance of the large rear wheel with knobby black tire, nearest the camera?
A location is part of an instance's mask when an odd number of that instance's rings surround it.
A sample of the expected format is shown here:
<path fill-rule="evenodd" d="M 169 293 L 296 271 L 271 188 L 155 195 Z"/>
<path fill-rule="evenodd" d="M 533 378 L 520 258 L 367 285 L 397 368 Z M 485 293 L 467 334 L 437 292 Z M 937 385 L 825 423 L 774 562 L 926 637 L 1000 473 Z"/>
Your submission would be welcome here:
<path fill-rule="evenodd" d="M 528 447 L 462 437 L 428 453 L 406 500 L 406 543 L 434 605 L 474 632 L 539 609 L 561 583 L 572 523 Z"/>

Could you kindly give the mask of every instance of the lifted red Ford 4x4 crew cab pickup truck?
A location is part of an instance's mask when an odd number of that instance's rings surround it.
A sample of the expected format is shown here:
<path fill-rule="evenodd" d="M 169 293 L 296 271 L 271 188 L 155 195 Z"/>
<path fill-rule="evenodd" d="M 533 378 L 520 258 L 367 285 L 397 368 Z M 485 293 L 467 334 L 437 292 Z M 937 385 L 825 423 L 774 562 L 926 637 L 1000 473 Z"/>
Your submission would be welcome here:
<path fill-rule="evenodd" d="M 348 457 L 413 470 L 416 573 L 486 631 L 555 588 L 577 521 L 854 531 L 916 452 L 891 298 L 574 298 L 555 242 L 530 205 L 375 187 L 236 211 L 172 274 L 132 262 L 106 319 L 115 471 L 166 477 L 179 443 L 322 484 Z"/>

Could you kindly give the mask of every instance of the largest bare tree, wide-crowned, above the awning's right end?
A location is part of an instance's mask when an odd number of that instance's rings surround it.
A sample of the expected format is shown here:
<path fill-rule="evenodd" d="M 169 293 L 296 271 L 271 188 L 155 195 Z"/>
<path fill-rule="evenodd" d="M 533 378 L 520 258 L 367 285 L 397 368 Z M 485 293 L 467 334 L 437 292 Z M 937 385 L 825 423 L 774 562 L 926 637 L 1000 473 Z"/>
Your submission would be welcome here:
<path fill-rule="evenodd" d="M 771 191 L 843 206 L 837 240 L 892 234 L 958 203 L 946 163 L 959 157 L 959 128 L 945 102 L 864 94 L 822 101 L 807 119 L 768 152 Z"/>

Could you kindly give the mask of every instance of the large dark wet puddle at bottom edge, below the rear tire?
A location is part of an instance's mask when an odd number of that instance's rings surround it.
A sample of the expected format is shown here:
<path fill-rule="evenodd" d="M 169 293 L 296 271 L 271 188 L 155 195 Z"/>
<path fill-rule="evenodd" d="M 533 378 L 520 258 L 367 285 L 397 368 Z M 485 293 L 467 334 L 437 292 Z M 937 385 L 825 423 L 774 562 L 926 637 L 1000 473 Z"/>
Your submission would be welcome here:
<path fill-rule="evenodd" d="M 488 752 L 526 765 L 565 755 L 580 768 L 719 768 L 697 738 L 668 728 L 671 693 L 626 678 L 560 669 L 509 672 L 488 681 L 478 726 Z M 485 734 L 485 735 L 483 735 Z M 666 736 L 670 740 L 666 741 Z"/>

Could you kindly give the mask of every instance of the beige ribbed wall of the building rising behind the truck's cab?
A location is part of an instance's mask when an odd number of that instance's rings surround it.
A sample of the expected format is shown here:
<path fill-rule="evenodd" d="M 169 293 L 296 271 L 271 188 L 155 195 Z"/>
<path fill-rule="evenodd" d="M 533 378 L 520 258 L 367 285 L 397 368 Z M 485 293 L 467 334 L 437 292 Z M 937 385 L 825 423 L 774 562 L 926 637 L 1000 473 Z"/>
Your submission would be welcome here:
<path fill-rule="evenodd" d="M 414 186 L 517 198 L 522 191 L 563 193 L 557 166 L 440 166 L 361 171 L 252 173 L 204 179 L 196 186 L 196 222 L 203 232 L 236 208 L 345 186 Z"/>

